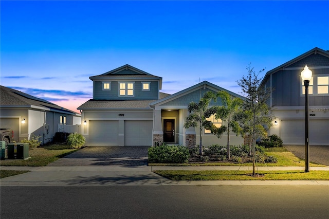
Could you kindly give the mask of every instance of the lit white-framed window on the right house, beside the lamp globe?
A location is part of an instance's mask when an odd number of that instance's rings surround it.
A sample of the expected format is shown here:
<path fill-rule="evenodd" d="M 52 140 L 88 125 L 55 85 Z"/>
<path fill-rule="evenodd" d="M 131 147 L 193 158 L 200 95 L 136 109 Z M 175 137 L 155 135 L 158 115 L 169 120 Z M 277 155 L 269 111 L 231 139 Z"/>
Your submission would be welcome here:
<path fill-rule="evenodd" d="M 302 82 L 302 95 L 305 95 L 304 81 Z M 329 75 L 314 75 L 309 81 L 308 95 L 327 96 L 329 95 Z"/>

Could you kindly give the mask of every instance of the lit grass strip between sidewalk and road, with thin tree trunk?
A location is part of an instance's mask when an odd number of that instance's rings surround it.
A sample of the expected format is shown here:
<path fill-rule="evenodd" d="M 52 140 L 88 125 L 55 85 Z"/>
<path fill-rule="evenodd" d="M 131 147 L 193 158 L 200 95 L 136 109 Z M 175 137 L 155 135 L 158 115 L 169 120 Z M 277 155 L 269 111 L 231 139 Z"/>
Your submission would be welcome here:
<path fill-rule="evenodd" d="M 186 171 L 156 170 L 154 173 L 171 180 L 329 180 L 329 171 Z"/>

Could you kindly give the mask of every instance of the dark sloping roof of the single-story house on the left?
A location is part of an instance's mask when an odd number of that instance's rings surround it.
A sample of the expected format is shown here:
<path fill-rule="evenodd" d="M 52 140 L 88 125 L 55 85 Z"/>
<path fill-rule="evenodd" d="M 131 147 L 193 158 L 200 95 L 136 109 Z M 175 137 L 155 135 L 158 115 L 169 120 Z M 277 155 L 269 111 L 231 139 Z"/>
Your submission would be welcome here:
<path fill-rule="evenodd" d="M 56 110 L 65 114 L 76 114 L 76 112 L 70 111 L 69 109 L 63 108 L 47 100 L 33 97 L 9 87 L 1 86 L 0 93 L 1 107 L 41 107 L 45 110 Z"/>

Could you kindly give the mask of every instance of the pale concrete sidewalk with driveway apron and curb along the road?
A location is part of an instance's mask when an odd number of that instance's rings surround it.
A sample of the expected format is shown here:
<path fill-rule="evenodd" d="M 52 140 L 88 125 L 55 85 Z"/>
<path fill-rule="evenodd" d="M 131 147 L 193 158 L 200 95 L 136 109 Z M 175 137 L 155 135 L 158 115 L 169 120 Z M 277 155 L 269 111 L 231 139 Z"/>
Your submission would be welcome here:
<path fill-rule="evenodd" d="M 160 185 L 329 185 L 329 180 L 173 181 L 153 170 L 252 170 L 252 167 L 1 167 L 31 172 L 1 179 L 1 186 L 160 186 Z M 258 167 L 258 170 L 304 170 L 304 167 Z M 329 167 L 310 167 L 310 171 Z"/>

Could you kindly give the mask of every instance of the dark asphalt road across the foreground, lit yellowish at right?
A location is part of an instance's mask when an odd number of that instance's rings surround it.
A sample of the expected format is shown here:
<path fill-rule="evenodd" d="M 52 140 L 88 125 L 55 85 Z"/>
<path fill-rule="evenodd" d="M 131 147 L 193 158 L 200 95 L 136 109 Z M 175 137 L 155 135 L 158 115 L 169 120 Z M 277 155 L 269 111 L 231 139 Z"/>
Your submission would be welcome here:
<path fill-rule="evenodd" d="M 1 187 L 1 218 L 327 218 L 328 186 Z"/>

